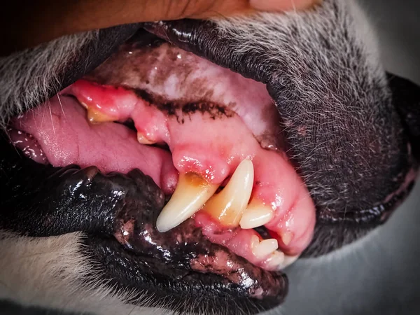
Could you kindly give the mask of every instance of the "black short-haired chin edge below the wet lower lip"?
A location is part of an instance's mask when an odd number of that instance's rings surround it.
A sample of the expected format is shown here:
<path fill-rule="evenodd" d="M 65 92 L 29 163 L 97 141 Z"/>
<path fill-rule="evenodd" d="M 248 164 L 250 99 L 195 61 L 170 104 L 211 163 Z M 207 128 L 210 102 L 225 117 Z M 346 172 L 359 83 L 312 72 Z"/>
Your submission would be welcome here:
<path fill-rule="evenodd" d="M 257 314 L 279 306 L 288 292 L 286 275 L 265 272 L 243 260 L 244 269 L 238 276 L 251 270 L 262 286 L 272 286 L 279 294 L 267 295 L 263 299 L 252 298 L 244 286 L 232 283 L 223 276 L 195 272 L 179 265 L 171 265 L 144 255 L 127 251 L 115 239 L 88 235 L 84 239 L 86 253 L 99 262 L 104 269 L 104 281 L 128 289 L 135 289 L 130 302 L 138 304 L 146 293 L 151 297 L 150 305 L 172 311 L 197 314 L 216 314 L 223 309 L 226 314 Z M 156 272 L 159 270 L 159 272 Z M 140 290 L 140 291 L 139 291 Z"/>

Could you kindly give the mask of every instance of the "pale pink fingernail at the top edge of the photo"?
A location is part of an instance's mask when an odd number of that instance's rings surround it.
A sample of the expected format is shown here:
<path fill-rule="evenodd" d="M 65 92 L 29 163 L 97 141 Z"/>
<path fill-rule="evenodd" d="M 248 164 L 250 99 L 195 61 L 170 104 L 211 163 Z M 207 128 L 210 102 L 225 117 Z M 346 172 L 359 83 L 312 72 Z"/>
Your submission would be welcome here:
<path fill-rule="evenodd" d="M 249 0 L 250 6 L 262 11 L 304 10 L 321 3 L 322 0 Z"/>

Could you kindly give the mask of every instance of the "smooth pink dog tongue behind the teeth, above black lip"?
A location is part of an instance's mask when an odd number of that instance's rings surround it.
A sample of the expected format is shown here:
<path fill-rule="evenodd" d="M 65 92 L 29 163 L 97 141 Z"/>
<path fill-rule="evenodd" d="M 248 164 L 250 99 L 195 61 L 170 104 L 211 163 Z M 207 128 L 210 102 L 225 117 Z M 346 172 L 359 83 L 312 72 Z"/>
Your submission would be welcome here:
<path fill-rule="evenodd" d="M 85 116 L 85 109 L 76 99 L 56 96 L 20 116 L 13 127 L 33 136 L 55 167 L 94 165 L 102 172 L 124 174 L 138 168 L 151 176 L 165 194 L 174 192 L 178 172 L 170 153 L 139 144 L 136 132 L 124 125 L 92 125 Z M 21 138 L 13 140 L 20 143 Z"/>

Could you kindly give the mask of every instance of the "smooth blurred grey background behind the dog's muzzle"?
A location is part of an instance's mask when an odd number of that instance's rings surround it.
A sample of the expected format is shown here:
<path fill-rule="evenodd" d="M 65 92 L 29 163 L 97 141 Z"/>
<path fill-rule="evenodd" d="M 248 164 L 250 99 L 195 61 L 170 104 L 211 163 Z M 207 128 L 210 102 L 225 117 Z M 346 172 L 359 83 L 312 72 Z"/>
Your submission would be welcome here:
<path fill-rule="evenodd" d="M 361 3 L 377 29 L 386 69 L 420 84 L 420 1 Z M 420 183 L 388 223 L 371 235 L 290 267 L 288 299 L 269 314 L 420 314 L 419 240 Z M 57 315 L 6 302 L 0 302 L 0 314 Z"/>

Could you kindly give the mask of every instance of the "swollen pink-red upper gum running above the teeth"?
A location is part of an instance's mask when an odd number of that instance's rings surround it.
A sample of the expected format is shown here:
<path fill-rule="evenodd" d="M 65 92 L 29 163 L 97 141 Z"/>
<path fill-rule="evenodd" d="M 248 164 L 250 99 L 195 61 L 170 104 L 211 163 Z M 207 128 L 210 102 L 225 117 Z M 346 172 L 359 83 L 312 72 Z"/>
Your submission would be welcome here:
<path fill-rule="evenodd" d="M 177 110 L 178 117 L 168 116 L 132 90 L 85 80 L 74 83 L 71 94 L 113 119 L 132 118 L 137 131 L 148 140 L 169 146 L 179 172 L 196 172 L 211 183 L 221 184 L 242 160 L 253 160 L 251 199 L 273 209 L 274 218 L 266 227 L 275 232 L 279 247 L 288 255 L 297 255 L 309 244 L 315 209 L 306 186 L 286 157 L 262 149 L 235 113 L 212 119 L 208 113 Z M 284 244 L 281 235 L 291 237 L 290 242 Z"/>

